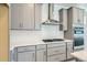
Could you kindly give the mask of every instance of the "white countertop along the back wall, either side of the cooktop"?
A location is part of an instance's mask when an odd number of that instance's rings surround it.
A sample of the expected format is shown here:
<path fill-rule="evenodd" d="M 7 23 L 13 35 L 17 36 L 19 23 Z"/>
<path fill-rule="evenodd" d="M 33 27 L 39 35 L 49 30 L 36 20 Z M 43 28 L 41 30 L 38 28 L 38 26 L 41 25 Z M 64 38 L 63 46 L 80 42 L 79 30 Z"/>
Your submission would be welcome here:
<path fill-rule="evenodd" d="M 10 50 L 13 50 L 18 46 L 26 46 L 26 45 L 37 45 L 37 44 L 46 44 L 42 41 L 43 39 L 39 40 L 37 37 L 29 37 L 29 36 L 20 36 L 15 39 L 10 39 Z M 72 40 L 65 40 L 64 42 L 73 42 Z"/>

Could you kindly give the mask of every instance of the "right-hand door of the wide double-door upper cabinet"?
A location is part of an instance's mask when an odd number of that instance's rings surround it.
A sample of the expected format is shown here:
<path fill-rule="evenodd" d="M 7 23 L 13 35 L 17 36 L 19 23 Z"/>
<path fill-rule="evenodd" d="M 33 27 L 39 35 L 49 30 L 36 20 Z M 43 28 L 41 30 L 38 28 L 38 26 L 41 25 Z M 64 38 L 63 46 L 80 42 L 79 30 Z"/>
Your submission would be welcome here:
<path fill-rule="evenodd" d="M 23 3 L 23 29 L 34 30 L 34 4 Z"/>

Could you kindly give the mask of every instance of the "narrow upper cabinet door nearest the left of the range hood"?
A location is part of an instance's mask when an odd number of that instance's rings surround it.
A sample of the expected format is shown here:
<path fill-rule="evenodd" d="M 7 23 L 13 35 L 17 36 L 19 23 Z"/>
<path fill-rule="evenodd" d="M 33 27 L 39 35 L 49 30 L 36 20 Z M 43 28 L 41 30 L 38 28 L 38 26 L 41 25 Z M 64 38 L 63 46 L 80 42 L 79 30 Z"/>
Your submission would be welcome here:
<path fill-rule="evenodd" d="M 35 4 L 35 30 L 40 30 L 41 28 L 41 21 L 42 21 L 41 7 L 42 6 L 40 3 Z"/>

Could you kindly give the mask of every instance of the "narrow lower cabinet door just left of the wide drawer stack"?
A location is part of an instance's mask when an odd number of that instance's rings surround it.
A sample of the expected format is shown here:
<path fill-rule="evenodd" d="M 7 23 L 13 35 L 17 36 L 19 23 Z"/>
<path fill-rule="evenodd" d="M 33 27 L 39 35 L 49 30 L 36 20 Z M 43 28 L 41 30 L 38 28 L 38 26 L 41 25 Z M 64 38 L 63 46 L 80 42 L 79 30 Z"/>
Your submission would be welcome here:
<path fill-rule="evenodd" d="M 36 51 L 36 62 L 46 62 L 46 50 Z"/>

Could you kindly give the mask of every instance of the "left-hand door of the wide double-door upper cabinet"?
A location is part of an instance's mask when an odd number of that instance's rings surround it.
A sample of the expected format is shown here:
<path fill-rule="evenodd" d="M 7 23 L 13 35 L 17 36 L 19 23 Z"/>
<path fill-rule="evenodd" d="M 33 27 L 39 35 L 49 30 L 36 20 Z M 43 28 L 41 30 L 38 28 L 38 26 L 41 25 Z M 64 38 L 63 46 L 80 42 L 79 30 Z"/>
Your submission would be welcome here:
<path fill-rule="evenodd" d="M 11 4 L 11 29 L 20 29 L 20 7 L 19 4 Z"/>

